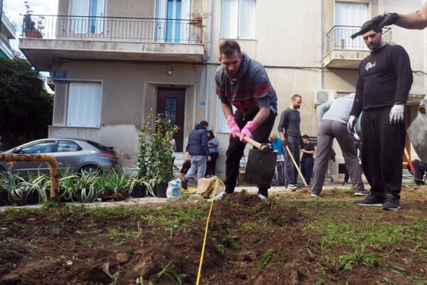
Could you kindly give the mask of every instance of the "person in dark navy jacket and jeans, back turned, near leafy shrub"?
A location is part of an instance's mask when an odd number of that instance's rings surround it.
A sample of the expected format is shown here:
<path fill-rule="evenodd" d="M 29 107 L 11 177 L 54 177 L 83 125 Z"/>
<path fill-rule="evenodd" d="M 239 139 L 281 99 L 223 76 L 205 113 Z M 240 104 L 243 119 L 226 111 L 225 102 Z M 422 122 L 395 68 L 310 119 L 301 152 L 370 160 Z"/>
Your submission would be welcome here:
<path fill-rule="evenodd" d="M 182 188 L 187 189 L 187 183 L 197 173 L 197 179 L 203 178 L 206 171 L 206 160 L 211 161 L 211 153 L 208 147 L 208 122 L 201 121 L 189 134 L 189 154 L 191 167 L 186 176 L 181 179 Z"/>

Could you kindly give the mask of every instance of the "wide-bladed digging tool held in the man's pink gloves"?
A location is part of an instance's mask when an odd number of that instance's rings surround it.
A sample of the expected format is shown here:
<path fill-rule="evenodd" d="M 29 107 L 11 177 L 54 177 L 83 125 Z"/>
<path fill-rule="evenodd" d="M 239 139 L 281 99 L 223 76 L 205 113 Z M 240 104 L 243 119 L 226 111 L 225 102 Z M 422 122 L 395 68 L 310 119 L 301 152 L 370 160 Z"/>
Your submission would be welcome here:
<path fill-rule="evenodd" d="M 236 136 L 240 137 L 240 134 L 237 133 Z M 249 150 L 244 180 L 251 184 L 270 184 L 274 176 L 278 153 L 272 151 L 268 144 L 260 144 L 247 136 L 244 140 L 257 148 Z"/>

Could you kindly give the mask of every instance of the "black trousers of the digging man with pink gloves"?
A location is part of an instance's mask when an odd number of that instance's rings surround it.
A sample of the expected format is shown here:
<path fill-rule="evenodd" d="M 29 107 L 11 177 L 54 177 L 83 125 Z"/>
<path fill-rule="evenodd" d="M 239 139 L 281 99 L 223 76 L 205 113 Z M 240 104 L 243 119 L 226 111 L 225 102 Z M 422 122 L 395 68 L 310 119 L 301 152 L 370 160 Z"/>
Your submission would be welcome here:
<path fill-rule="evenodd" d="M 274 120 L 277 114 L 270 112 L 270 117 L 263 122 L 254 132 L 253 139 L 261 144 L 268 144 L 270 138 L 271 129 L 273 129 Z M 248 121 L 251 121 L 255 115 L 248 116 L 243 114 L 241 111 L 234 113 L 234 118 L 240 129 L 245 127 Z M 230 143 L 226 152 L 226 193 L 233 193 L 236 188 L 238 168 L 240 166 L 240 160 L 243 156 L 246 143 L 240 141 L 240 139 L 233 139 L 230 136 Z M 265 181 L 265 184 L 258 184 L 258 193 L 268 197 L 268 188 L 270 188 L 271 181 Z"/>

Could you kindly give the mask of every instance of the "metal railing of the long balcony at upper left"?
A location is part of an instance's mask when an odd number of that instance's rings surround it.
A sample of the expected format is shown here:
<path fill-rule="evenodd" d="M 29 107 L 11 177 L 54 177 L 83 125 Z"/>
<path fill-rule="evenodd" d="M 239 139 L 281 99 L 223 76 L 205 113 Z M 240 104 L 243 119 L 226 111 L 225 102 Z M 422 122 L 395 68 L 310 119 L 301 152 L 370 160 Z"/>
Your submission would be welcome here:
<path fill-rule="evenodd" d="M 201 21 L 191 19 L 25 15 L 22 36 L 85 41 L 202 43 L 202 32 Z"/>

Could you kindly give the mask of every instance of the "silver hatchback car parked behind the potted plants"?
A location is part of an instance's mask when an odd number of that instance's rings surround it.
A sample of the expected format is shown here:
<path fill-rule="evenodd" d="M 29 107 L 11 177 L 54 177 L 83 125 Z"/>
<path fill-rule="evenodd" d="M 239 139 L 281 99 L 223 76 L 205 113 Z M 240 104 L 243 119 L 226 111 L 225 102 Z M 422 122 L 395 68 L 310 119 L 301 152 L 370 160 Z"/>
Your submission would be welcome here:
<path fill-rule="evenodd" d="M 122 171 L 119 159 L 112 146 L 103 146 L 86 139 L 38 139 L 1 154 L 51 154 L 61 169 L 70 168 L 75 173 L 92 171 Z M 49 173 L 49 164 L 42 161 L 0 161 L 0 171 L 10 166 L 13 172 Z"/>

